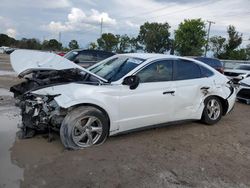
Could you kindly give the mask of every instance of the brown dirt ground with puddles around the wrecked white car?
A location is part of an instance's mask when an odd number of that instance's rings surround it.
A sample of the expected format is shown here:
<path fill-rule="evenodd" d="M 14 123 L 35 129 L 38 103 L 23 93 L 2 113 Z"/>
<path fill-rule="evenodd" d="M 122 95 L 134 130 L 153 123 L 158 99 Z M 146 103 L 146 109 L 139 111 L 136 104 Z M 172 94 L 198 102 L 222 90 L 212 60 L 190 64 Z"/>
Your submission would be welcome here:
<path fill-rule="evenodd" d="M 187 122 L 68 151 L 58 135 L 16 138 L 6 90 L 16 82 L 0 76 L 0 187 L 250 187 L 249 105 L 236 103 L 215 126 Z"/>

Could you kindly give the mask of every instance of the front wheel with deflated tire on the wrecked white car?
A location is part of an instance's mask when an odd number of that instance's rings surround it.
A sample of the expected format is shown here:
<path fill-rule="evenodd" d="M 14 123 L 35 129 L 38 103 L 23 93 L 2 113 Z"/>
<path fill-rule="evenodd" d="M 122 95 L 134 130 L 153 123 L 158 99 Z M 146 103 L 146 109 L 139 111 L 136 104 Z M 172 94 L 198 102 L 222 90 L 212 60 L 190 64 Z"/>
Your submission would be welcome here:
<path fill-rule="evenodd" d="M 82 149 L 103 143 L 109 135 L 107 117 L 97 108 L 78 107 L 64 118 L 60 137 L 68 149 Z"/>

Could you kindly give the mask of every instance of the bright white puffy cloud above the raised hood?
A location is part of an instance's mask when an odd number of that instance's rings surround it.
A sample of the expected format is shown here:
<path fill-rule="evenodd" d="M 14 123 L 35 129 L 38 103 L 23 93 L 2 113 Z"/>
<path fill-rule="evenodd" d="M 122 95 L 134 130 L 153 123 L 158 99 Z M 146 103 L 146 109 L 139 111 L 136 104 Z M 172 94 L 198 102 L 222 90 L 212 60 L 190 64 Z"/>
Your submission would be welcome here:
<path fill-rule="evenodd" d="M 51 32 L 89 30 L 99 27 L 101 20 L 106 25 L 116 25 L 116 20 L 110 18 L 108 13 L 95 9 L 86 14 L 79 8 L 72 8 L 67 18 L 65 22 L 51 21 L 48 25 L 44 25 L 43 29 Z"/>

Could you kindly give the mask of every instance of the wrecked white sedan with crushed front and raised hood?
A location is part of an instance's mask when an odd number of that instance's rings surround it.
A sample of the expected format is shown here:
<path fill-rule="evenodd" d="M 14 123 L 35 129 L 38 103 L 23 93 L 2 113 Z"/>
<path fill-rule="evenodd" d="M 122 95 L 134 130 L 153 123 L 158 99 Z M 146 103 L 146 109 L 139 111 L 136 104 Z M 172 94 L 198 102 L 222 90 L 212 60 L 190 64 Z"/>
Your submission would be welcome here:
<path fill-rule="evenodd" d="M 88 69 L 52 53 L 17 50 L 11 64 L 26 81 L 19 99 L 24 137 L 57 130 L 66 148 L 166 122 L 217 123 L 234 106 L 229 80 L 202 62 L 163 54 L 121 54 Z"/>

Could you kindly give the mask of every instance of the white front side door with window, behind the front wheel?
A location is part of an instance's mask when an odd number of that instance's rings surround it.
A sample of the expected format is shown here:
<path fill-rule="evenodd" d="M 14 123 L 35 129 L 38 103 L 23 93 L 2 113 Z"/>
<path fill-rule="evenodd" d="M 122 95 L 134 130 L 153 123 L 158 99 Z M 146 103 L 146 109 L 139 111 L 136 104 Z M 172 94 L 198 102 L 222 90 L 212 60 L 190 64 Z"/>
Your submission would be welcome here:
<path fill-rule="evenodd" d="M 123 85 L 119 102 L 119 129 L 126 131 L 174 120 L 175 85 L 172 60 L 150 63 L 136 73 L 139 86 Z"/>

